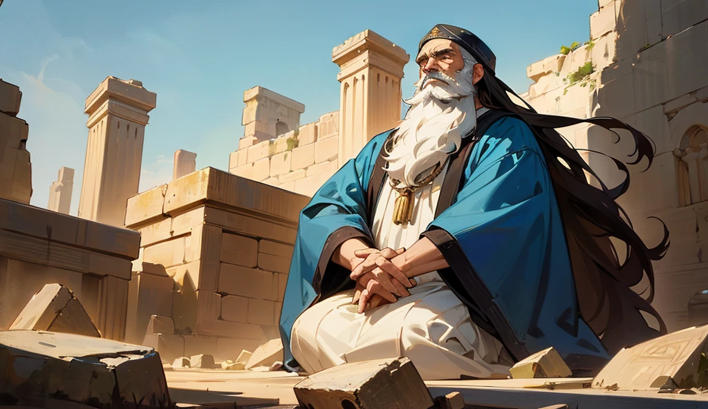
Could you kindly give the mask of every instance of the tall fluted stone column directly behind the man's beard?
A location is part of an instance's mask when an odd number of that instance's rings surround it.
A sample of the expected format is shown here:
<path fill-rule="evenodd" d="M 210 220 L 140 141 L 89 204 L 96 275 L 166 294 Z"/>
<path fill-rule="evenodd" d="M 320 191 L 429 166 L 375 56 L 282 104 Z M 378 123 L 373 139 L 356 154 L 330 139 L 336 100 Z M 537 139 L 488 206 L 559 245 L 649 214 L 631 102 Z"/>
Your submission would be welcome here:
<path fill-rule="evenodd" d="M 340 71 L 339 163 L 355 157 L 377 134 L 401 120 L 401 79 L 410 56 L 372 30 L 332 50 Z"/>

